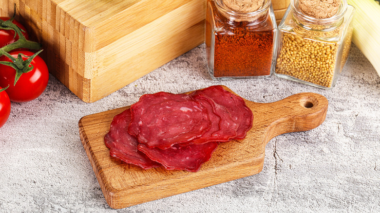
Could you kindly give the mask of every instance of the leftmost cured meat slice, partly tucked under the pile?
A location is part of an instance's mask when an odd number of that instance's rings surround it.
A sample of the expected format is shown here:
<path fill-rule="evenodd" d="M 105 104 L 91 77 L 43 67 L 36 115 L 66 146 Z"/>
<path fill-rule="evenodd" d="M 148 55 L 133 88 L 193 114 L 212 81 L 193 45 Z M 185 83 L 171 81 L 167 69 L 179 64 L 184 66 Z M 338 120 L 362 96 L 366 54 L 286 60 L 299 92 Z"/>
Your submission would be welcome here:
<path fill-rule="evenodd" d="M 127 131 L 131 122 L 131 110 L 116 115 L 111 122 L 110 131 L 104 136 L 104 142 L 110 148 L 110 155 L 143 169 L 159 167 L 161 164 L 149 159 L 137 149 L 137 139 Z"/>

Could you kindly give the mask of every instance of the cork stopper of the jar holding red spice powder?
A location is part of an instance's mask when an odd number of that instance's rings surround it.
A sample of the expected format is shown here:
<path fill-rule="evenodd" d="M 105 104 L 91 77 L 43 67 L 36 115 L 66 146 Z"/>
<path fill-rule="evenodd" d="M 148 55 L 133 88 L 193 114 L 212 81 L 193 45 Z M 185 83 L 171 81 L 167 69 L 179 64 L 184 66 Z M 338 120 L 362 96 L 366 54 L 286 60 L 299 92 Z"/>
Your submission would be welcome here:
<path fill-rule="evenodd" d="M 251 13 L 263 6 L 264 0 L 223 0 L 230 10 L 237 13 Z"/>

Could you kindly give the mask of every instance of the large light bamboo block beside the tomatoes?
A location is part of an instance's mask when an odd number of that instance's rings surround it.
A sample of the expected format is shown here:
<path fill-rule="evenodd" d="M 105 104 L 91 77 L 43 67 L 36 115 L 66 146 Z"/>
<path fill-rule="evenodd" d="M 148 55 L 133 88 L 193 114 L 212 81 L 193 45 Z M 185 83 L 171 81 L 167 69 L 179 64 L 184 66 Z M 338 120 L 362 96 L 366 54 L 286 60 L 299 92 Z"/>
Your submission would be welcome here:
<path fill-rule="evenodd" d="M 107 96 L 204 41 L 206 0 L 0 2 L 7 5 L 0 15 L 13 14 L 9 5 L 16 2 L 21 22 L 47 49 L 41 55 L 49 71 L 85 102 Z"/>

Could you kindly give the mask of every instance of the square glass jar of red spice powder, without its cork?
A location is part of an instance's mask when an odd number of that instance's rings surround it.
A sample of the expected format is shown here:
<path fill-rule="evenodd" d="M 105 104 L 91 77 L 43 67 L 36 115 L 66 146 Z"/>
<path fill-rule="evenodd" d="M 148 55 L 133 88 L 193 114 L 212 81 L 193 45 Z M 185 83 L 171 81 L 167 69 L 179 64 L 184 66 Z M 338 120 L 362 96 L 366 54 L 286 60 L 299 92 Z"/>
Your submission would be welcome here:
<path fill-rule="evenodd" d="M 213 79 L 270 76 L 274 69 L 277 24 L 270 0 L 254 12 L 229 9 L 208 0 L 206 54 Z"/>

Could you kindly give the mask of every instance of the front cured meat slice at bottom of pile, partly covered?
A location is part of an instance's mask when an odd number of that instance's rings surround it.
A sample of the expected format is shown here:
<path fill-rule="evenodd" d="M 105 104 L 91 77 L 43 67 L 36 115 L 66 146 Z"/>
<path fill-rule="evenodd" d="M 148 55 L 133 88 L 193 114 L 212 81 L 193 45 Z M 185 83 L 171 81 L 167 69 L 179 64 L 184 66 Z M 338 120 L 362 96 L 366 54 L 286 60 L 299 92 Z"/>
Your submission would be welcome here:
<path fill-rule="evenodd" d="M 142 143 L 138 149 L 150 159 L 161 163 L 168 170 L 186 170 L 196 172 L 201 165 L 211 158 L 218 147 L 217 142 L 193 144 L 188 146 L 173 145 L 169 149 L 150 148 Z"/>

